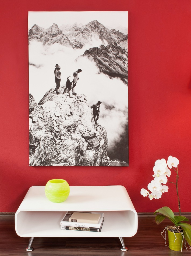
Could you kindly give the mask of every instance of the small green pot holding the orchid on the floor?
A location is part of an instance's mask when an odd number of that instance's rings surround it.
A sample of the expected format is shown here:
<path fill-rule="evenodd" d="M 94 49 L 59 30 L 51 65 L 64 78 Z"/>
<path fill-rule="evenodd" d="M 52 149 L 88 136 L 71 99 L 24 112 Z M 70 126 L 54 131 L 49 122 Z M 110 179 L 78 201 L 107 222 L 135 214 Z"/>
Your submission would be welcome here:
<path fill-rule="evenodd" d="M 173 251 L 181 251 L 183 248 L 183 236 L 181 233 L 173 233 L 168 231 L 168 245 Z M 176 237 L 175 237 L 176 236 Z"/>

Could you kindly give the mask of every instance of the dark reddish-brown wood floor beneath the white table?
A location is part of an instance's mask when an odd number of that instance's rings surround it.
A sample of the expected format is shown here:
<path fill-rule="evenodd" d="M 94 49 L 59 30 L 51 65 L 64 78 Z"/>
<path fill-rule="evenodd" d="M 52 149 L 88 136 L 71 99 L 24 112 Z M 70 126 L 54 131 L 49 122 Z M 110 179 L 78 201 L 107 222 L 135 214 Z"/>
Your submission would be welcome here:
<path fill-rule="evenodd" d="M 185 214 L 186 215 L 186 214 Z M 188 218 L 190 214 L 186 215 Z M 191 219 L 191 218 L 190 218 Z M 34 251 L 26 252 L 29 239 L 15 232 L 14 216 L 0 217 L 1 256 L 189 256 L 191 250 L 170 250 L 164 245 L 160 232 L 169 225 L 167 220 L 160 225 L 151 214 L 138 215 L 138 231 L 134 237 L 124 238 L 127 252 L 119 250 L 121 243 L 115 238 L 34 238 Z M 80 231 L 79 231 L 80 232 Z"/>

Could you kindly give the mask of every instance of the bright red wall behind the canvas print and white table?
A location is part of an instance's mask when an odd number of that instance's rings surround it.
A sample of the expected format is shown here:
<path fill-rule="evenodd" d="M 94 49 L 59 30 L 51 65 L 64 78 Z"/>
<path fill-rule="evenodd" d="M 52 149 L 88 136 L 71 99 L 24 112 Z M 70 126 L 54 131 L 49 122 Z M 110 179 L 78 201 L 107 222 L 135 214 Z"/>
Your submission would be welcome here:
<path fill-rule="evenodd" d="M 190 204 L 191 1 L 1 2 L 0 212 L 15 212 L 29 187 L 123 185 L 137 212 L 178 211 L 173 184 L 159 200 L 140 195 L 155 160 L 179 159 L 181 210 Z M 29 167 L 28 11 L 129 11 L 129 167 Z M 175 178 L 175 175 L 172 177 Z"/>

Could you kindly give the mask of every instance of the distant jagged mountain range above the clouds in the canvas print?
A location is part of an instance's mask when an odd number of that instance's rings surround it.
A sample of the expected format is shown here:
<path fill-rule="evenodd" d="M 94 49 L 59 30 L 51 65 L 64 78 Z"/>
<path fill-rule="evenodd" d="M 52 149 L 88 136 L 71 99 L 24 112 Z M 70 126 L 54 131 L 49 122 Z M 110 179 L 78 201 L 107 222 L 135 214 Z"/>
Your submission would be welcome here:
<path fill-rule="evenodd" d="M 89 46 L 82 56 L 95 61 L 101 73 L 119 77 L 127 84 L 128 35 L 115 29 L 110 30 L 97 20 L 80 27 L 77 24 L 63 25 L 62 30 L 55 23 L 47 29 L 35 24 L 29 31 L 29 44 L 31 40 L 40 41 L 43 45 L 59 43 L 71 48 L 83 48 L 99 40 L 99 47 Z"/>

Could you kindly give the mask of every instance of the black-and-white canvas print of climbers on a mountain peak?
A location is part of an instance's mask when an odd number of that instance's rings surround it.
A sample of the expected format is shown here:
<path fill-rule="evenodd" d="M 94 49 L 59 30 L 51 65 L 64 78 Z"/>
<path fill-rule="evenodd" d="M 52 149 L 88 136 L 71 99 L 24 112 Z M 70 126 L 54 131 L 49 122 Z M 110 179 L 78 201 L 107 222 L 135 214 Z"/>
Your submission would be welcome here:
<path fill-rule="evenodd" d="M 128 12 L 29 12 L 29 165 L 129 166 Z"/>

